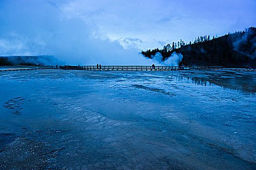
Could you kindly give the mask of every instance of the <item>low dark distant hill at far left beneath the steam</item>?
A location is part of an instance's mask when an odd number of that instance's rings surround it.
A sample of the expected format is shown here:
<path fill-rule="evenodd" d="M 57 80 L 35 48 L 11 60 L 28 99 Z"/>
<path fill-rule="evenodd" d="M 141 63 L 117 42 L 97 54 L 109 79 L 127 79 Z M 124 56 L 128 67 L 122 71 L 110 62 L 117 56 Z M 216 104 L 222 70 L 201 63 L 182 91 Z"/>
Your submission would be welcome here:
<path fill-rule="evenodd" d="M 13 65 L 55 65 L 57 60 L 51 55 L 0 56 L 0 66 Z"/>

